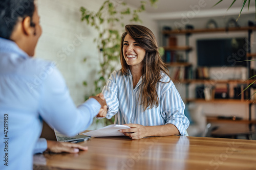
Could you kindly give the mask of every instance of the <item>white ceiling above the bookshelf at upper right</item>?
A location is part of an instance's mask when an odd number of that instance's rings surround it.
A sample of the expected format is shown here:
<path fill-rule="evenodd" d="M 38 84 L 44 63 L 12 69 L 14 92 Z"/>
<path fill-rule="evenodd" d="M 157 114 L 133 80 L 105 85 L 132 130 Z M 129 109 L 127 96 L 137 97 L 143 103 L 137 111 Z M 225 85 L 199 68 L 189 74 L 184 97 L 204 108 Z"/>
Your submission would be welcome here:
<path fill-rule="evenodd" d="M 123 1 L 135 8 L 140 6 L 139 0 Z M 201 4 L 199 4 L 199 2 L 201 2 Z M 150 3 L 147 3 L 146 12 L 155 19 L 181 18 L 181 14 L 186 14 L 188 11 L 194 11 L 197 17 L 205 17 L 207 14 L 210 14 L 211 16 L 239 14 L 243 5 L 243 1 L 236 1 L 227 11 L 233 1 L 222 1 L 220 4 L 213 7 L 218 2 L 219 0 L 158 0 L 156 3 L 157 8 L 154 8 Z M 242 13 L 253 12 L 255 13 L 255 2 L 250 2 L 250 8 L 248 11 L 247 1 Z"/>

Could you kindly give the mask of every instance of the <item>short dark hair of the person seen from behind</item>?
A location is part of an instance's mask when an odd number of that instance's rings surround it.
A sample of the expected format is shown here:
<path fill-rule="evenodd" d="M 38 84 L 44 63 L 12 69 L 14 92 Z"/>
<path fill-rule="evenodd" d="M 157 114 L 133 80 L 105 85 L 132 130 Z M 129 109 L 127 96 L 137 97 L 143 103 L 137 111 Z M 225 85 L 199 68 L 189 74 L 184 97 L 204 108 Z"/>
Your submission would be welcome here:
<path fill-rule="evenodd" d="M 35 0 L 0 0 L 0 37 L 10 39 L 19 19 L 31 17 L 30 25 L 34 27 L 32 16 Z"/>

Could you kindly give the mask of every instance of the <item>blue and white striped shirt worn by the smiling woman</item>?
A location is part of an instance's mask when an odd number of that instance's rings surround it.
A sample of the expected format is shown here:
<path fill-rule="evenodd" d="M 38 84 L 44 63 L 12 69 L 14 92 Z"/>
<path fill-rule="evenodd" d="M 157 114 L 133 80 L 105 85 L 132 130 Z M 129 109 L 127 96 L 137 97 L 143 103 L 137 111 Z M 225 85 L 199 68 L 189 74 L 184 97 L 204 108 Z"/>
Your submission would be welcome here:
<path fill-rule="evenodd" d="M 163 76 L 162 82 L 168 82 L 168 76 Z M 142 87 L 142 77 L 133 88 L 133 76 L 129 70 L 129 75 L 122 75 L 121 71 L 112 72 L 109 80 L 104 86 L 102 93 L 108 105 L 106 118 L 115 117 L 115 124 L 140 124 L 143 126 L 158 126 L 173 124 L 177 127 L 181 135 L 186 134 L 189 120 L 184 115 L 185 105 L 177 91 L 174 83 L 158 82 L 156 91 L 159 97 L 159 106 L 144 111 L 140 105 L 140 92 Z"/>

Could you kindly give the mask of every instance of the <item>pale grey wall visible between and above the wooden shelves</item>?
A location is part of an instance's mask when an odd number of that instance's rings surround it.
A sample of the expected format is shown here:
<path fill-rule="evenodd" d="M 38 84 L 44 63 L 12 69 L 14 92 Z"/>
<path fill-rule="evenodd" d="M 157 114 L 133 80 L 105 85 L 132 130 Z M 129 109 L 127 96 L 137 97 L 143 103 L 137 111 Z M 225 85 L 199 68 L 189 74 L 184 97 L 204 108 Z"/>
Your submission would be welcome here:
<path fill-rule="evenodd" d="M 173 30 L 176 29 L 177 23 L 180 23 L 179 26 L 183 26 L 182 29 L 184 29 L 186 24 L 193 25 L 195 29 L 203 29 L 206 28 L 206 23 L 209 21 L 209 19 L 214 19 L 217 22 L 218 28 L 225 28 L 226 23 L 230 18 L 236 19 L 238 15 L 226 15 L 223 16 L 215 16 L 215 17 L 200 17 L 200 18 L 191 18 L 191 19 L 168 19 L 168 20 L 158 20 L 158 26 L 159 30 L 162 30 L 164 26 L 169 26 Z M 240 19 L 238 20 L 238 24 L 241 27 L 247 26 L 248 20 L 254 21 L 255 15 L 254 14 L 243 14 L 241 15 Z M 175 24 L 176 23 L 176 24 Z M 165 45 L 166 42 L 163 40 L 161 32 L 159 31 L 159 37 L 161 45 Z M 227 32 L 227 33 L 203 33 L 203 34 L 192 34 L 189 36 L 189 45 L 193 48 L 193 50 L 189 53 L 189 62 L 193 64 L 194 68 L 197 66 L 197 51 L 196 51 L 196 40 L 197 39 L 207 39 L 207 38 L 223 38 L 223 37 L 247 37 L 247 32 Z M 178 45 L 184 46 L 185 45 L 185 36 L 184 35 L 178 35 L 177 36 Z M 252 46 L 251 50 L 252 53 L 256 52 L 256 33 L 252 34 L 251 37 L 251 44 Z M 252 65 L 256 66 L 255 61 L 252 62 Z M 255 68 L 255 67 L 254 67 Z M 215 67 L 210 68 L 211 78 L 217 78 L 218 80 L 226 80 L 226 79 L 232 79 L 236 77 L 241 76 L 241 72 L 244 71 L 245 68 L 234 68 L 234 67 L 228 67 L 225 71 L 222 71 L 221 67 Z M 195 86 L 196 84 L 191 84 L 189 86 L 189 98 L 195 97 Z M 184 85 L 177 85 L 177 88 L 182 96 L 182 98 L 185 100 L 185 86 Z M 196 104 L 200 105 L 200 104 Z M 255 106 L 255 105 L 254 105 Z M 252 107 L 252 118 L 255 117 L 256 111 L 255 107 Z M 226 115 L 226 116 L 240 116 L 244 118 L 248 118 L 248 105 L 247 104 L 227 104 L 227 103 L 221 103 L 221 104 L 203 104 L 203 112 L 206 115 Z"/>

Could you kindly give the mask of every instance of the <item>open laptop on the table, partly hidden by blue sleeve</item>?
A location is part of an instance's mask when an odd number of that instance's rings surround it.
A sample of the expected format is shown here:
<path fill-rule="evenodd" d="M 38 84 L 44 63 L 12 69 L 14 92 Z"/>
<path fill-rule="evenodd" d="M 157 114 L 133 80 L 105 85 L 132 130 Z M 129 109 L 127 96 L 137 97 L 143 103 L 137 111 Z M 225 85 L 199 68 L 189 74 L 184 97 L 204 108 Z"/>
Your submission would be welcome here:
<path fill-rule="evenodd" d="M 58 142 L 76 142 L 76 141 L 88 140 L 89 138 L 91 138 L 91 136 L 86 136 L 86 135 L 76 135 L 73 137 L 62 135 L 59 132 L 55 132 L 45 121 L 43 121 L 43 124 L 42 124 L 42 133 L 40 137 L 46 138 L 48 140 L 58 141 Z"/>

